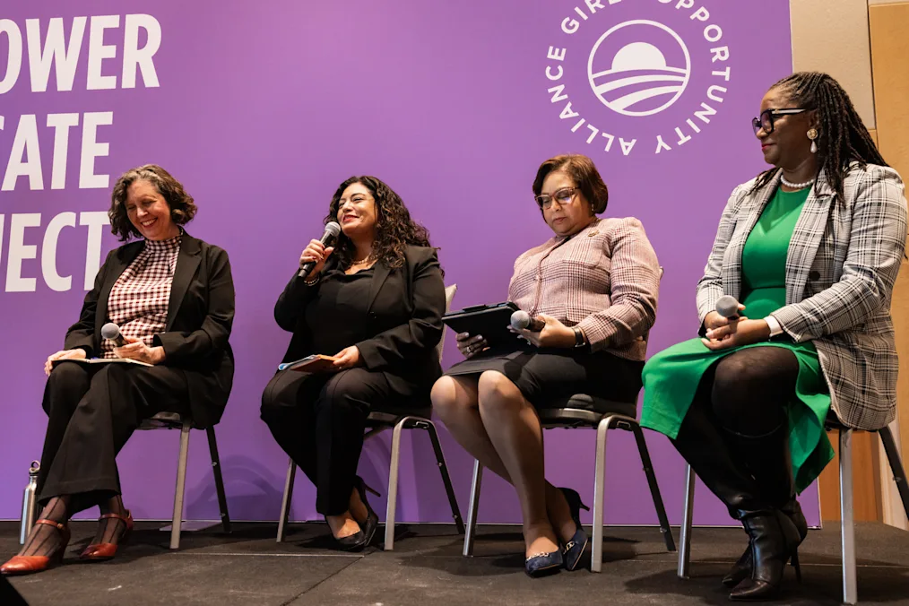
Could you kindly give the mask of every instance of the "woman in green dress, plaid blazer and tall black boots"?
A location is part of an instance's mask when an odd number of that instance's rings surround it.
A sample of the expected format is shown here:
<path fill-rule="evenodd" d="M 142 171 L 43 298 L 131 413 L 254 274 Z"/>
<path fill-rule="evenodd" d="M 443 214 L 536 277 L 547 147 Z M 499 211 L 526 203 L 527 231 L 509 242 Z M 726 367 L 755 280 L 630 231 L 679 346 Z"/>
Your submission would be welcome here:
<path fill-rule="evenodd" d="M 833 78 L 784 78 L 753 124 L 774 168 L 730 196 L 697 285 L 702 338 L 646 364 L 642 412 L 748 533 L 723 580 L 734 600 L 772 597 L 790 559 L 798 571 L 795 494 L 833 458 L 827 415 L 894 419 L 906 239 L 903 182 Z M 741 302 L 728 320 L 724 295 Z"/>

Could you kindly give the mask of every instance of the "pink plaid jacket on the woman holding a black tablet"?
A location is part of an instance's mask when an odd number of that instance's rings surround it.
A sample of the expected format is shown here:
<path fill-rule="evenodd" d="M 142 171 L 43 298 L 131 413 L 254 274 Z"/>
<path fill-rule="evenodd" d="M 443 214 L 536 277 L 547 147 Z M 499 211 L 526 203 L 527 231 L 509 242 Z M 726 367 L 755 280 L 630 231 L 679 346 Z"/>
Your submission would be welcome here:
<path fill-rule="evenodd" d="M 594 352 L 643 361 L 659 288 L 660 264 L 644 225 L 608 218 L 519 256 L 508 300 L 577 326 Z"/>

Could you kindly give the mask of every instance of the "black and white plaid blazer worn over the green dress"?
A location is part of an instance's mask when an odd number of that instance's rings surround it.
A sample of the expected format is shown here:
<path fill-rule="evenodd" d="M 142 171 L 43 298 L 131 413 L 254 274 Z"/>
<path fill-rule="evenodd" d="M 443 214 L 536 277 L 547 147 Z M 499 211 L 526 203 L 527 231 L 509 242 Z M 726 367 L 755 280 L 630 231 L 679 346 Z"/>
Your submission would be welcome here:
<path fill-rule="evenodd" d="M 739 298 L 745 240 L 779 180 L 752 192 L 753 179 L 729 197 L 697 285 L 702 325 L 721 296 Z M 786 304 L 774 318 L 796 343 L 814 341 L 834 412 L 856 429 L 894 419 L 899 364 L 890 301 L 905 243 L 903 180 L 875 164 L 850 167 L 843 200 L 822 173 L 789 243 Z"/>

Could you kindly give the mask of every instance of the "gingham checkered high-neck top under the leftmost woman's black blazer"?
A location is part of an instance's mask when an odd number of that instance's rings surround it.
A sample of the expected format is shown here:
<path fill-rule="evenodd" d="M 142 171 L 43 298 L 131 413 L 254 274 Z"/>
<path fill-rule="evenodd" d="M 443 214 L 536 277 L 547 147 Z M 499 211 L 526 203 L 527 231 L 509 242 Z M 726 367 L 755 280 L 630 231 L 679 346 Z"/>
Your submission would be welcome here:
<path fill-rule="evenodd" d="M 174 283 L 180 238 L 145 241 L 145 248 L 120 274 L 107 299 L 107 319 L 125 337 L 142 339 L 151 346 L 155 333 L 165 330 L 171 284 Z M 115 358 L 114 343 L 102 340 L 103 358 Z"/>

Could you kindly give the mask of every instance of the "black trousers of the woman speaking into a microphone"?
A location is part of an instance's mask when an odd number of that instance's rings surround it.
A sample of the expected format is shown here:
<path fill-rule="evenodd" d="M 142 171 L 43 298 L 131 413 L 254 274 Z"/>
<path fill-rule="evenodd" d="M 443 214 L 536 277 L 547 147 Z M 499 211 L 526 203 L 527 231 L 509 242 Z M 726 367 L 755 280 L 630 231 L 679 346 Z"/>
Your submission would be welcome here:
<path fill-rule="evenodd" d="M 428 402 L 428 400 L 427 400 Z M 262 420 L 278 445 L 315 484 L 315 511 L 350 509 L 366 417 L 399 402 L 385 373 L 352 368 L 335 374 L 277 373 L 262 394 Z"/>

